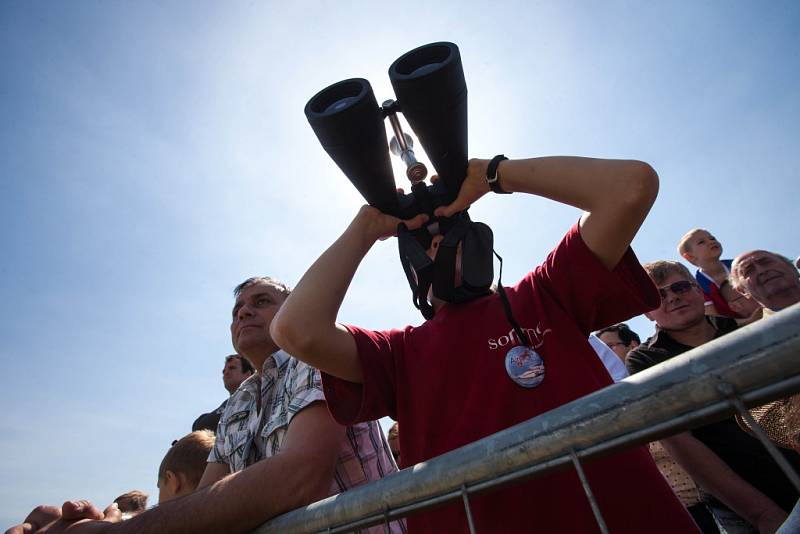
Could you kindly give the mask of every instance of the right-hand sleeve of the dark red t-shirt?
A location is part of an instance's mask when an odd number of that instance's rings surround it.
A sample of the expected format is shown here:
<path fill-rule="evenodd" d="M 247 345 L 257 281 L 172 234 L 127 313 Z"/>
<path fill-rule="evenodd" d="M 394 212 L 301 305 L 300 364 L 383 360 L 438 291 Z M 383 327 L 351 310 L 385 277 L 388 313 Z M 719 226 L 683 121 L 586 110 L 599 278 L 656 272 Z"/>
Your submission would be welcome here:
<path fill-rule="evenodd" d="M 545 262 L 520 282 L 525 284 L 550 293 L 587 337 L 661 303 L 633 250 L 628 248 L 608 270 L 583 241 L 577 223 Z"/>

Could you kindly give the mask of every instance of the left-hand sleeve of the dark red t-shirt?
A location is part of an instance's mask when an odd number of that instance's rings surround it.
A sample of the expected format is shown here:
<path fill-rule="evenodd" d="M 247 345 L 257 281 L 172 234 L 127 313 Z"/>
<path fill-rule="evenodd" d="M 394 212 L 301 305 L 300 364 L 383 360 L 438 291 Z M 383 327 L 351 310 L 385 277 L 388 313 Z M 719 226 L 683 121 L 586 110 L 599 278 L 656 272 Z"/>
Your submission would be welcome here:
<path fill-rule="evenodd" d="M 377 332 L 345 325 L 356 342 L 362 384 L 322 373 L 328 409 L 342 425 L 380 419 L 397 419 L 395 405 L 396 359 L 402 358 L 404 333 Z"/>

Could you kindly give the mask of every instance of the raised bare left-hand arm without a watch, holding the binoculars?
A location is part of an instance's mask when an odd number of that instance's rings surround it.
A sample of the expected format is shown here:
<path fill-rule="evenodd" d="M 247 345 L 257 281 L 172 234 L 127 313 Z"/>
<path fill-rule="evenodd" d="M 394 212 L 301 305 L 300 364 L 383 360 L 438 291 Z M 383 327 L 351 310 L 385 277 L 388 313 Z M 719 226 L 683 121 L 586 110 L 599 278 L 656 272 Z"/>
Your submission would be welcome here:
<path fill-rule="evenodd" d="M 410 229 L 427 219 L 406 221 Z M 283 350 L 328 374 L 362 382 L 353 336 L 336 323 L 358 265 L 378 239 L 394 235 L 399 219 L 364 206 L 350 226 L 306 271 L 281 306 L 270 335 Z"/>

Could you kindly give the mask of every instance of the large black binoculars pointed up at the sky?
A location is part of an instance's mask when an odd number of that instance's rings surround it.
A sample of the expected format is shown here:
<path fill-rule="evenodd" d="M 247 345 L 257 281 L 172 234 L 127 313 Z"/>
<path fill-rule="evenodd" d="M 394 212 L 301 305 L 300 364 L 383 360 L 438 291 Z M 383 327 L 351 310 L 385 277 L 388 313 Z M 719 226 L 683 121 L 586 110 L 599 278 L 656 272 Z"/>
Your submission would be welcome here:
<path fill-rule="evenodd" d="M 453 43 L 432 43 L 400 56 L 389 67 L 397 100 L 381 106 L 363 78 L 326 87 L 305 114 L 325 151 L 364 199 L 384 213 L 409 219 L 455 200 L 467 170 L 467 84 L 461 55 Z M 425 149 L 439 179 L 425 184 L 427 169 L 416 160 L 410 136 L 403 133 L 402 112 Z M 387 143 L 384 119 L 395 136 Z M 412 182 L 400 194 L 389 161 L 399 155 Z"/>

